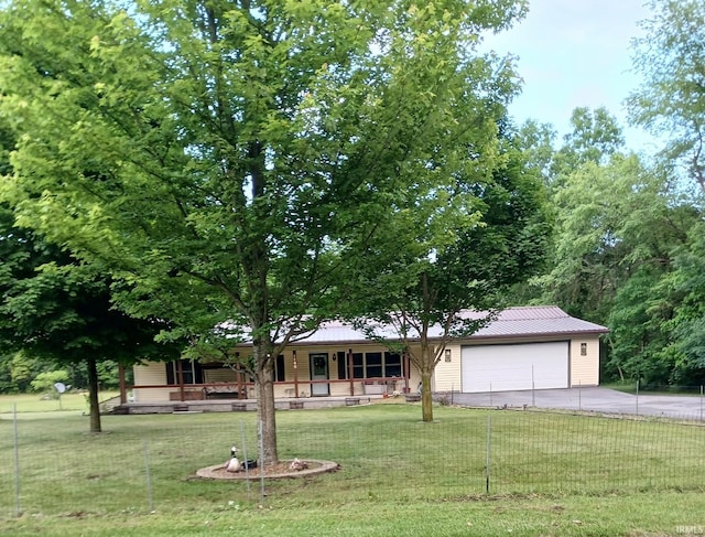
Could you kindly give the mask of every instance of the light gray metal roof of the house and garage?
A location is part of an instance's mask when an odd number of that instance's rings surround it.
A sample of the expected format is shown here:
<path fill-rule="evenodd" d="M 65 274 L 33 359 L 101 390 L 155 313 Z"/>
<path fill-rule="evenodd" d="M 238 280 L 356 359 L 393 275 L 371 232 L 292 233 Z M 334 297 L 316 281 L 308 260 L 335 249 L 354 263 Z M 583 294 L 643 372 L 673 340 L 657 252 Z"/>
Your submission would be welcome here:
<path fill-rule="evenodd" d="M 465 319 L 481 319 L 486 315 L 486 312 L 474 311 L 465 311 L 462 314 Z M 376 327 L 377 334 L 386 339 L 399 339 L 390 326 L 371 325 Z M 442 335 L 440 326 L 432 326 L 429 332 L 431 337 L 440 337 Z M 469 340 L 601 334 L 606 332 L 609 332 L 609 329 L 573 318 L 558 307 L 541 305 L 508 308 L 502 310 L 495 321 L 469 336 Z M 356 330 L 352 325 L 340 321 L 330 321 L 322 324 L 315 333 L 294 344 L 357 343 L 367 341 L 369 340 L 365 336 L 364 331 Z"/>

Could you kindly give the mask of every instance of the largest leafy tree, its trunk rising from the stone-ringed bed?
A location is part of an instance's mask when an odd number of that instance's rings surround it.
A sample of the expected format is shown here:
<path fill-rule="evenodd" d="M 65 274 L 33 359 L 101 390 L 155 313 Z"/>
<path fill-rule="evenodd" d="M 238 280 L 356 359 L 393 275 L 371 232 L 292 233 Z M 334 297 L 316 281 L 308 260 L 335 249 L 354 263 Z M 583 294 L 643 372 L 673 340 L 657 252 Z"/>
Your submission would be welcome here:
<path fill-rule="evenodd" d="M 335 313 L 339 267 L 419 163 L 459 165 L 474 96 L 508 73 L 478 37 L 525 3 L 14 1 L 2 196 L 109 267 L 129 312 L 251 339 L 273 462 L 273 357 Z"/>

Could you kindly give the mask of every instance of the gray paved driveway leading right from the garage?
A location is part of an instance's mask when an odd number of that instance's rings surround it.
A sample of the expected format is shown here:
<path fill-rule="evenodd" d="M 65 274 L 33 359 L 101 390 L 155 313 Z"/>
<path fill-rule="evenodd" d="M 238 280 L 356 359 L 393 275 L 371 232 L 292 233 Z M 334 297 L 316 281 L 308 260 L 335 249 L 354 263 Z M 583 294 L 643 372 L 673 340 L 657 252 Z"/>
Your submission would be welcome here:
<path fill-rule="evenodd" d="M 590 410 L 606 414 L 660 416 L 703 421 L 705 401 L 701 396 L 625 394 L 614 389 L 563 388 L 525 391 L 495 391 L 452 395 L 452 402 L 464 407 L 529 407 Z"/>

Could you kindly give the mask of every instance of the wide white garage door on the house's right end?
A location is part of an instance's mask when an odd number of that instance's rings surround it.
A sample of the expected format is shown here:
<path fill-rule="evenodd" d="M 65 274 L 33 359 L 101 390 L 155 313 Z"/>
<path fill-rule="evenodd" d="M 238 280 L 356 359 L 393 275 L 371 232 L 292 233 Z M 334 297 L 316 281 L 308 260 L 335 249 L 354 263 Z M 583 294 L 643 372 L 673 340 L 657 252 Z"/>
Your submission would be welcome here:
<path fill-rule="evenodd" d="M 567 388 L 568 343 L 465 346 L 463 391 Z"/>

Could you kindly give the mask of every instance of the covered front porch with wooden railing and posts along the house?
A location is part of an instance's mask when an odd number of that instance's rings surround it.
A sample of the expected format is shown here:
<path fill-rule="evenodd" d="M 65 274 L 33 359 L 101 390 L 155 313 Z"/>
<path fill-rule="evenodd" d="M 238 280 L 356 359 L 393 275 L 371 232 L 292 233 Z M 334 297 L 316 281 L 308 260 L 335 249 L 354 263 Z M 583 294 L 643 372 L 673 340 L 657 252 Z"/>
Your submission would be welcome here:
<path fill-rule="evenodd" d="M 149 363 L 134 368 L 128 385 L 120 370 L 120 406 L 188 404 L 220 409 L 223 405 L 256 405 L 253 379 L 238 365 L 186 359 Z M 348 351 L 292 350 L 274 358 L 274 399 L 278 408 L 314 400 L 343 401 L 394 397 L 416 391 L 409 355 L 366 345 Z M 415 380 L 417 384 L 417 379 Z M 364 400 L 364 399 L 362 399 Z M 251 402 L 247 402 L 251 401 Z M 304 402 L 302 402 L 304 401 Z M 134 407 L 137 408 L 137 407 Z"/>

